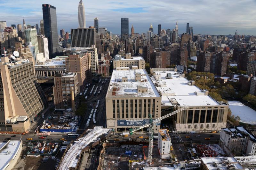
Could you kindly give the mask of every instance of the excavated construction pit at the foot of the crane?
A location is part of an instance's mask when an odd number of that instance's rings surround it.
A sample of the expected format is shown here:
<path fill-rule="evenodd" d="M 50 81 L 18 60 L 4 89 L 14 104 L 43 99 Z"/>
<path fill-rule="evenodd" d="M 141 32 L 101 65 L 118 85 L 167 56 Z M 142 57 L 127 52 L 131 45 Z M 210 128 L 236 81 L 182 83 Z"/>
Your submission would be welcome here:
<path fill-rule="evenodd" d="M 171 163 L 170 159 L 161 159 L 158 147 L 153 145 L 153 164 L 149 165 L 147 142 L 105 143 L 100 153 L 98 169 L 136 169 L 149 166 L 162 166 Z"/>

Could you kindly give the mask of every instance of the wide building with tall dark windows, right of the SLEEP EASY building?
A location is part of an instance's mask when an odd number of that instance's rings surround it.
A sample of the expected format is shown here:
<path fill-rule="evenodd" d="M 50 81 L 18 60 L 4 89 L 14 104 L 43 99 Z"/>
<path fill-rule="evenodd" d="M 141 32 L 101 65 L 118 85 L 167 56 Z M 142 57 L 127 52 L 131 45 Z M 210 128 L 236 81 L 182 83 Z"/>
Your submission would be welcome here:
<path fill-rule="evenodd" d="M 226 127 L 228 104 L 214 100 L 206 89 L 174 68 L 150 69 L 151 80 L 161 95 L 162 109 L 177 110 L 189 106 L 171 117 L 176 131 L 220 130 Z M 162 115 L 164 112 L 162 113 Z"/>

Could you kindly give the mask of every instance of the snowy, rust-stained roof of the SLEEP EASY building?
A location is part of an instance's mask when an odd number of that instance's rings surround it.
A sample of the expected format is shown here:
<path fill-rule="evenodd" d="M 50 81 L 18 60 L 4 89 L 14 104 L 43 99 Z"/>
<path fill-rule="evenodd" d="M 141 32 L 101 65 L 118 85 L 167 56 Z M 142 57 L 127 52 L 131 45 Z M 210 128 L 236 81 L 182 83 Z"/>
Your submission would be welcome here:
<path fill-rule="evenodd" d="M 135 74 L 140 74 L 140 81 L 135 81 Z M 122 82 L 122 79 L 126 79 Z M 138 92 L 138 86 L 147 87 L 147 92 Z M 112 90 L 112 91 L 111 91 Z M 111 93 L 112 92 L 112 93 Z M 107 96 L 140 96 L 140 97 L 160 97 L 153 82 L 144 69 L 138 70 L 113 70 Z"/>

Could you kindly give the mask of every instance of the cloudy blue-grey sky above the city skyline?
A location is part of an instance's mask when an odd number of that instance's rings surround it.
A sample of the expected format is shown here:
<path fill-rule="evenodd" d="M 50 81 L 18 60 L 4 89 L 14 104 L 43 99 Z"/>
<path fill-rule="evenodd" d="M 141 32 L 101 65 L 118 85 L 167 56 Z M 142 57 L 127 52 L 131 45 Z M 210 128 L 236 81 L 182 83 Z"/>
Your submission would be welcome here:
<path fill-rule="evenodd" d="M 77 28 L 77 7 L 80 0 L 0 0 L 0 20 L 11 24 L 40 24 L 43 19 L 42 4 L 56 7 L 58 32 L 64 29 L 70 33 Z M 198 34 L 256 35 L 256 0 L 83 0 L 86 26 L 93 26 L 93 19 L 99 18 L 99 26 L 108 31 L 121 33 L 121 18 L 129 18 L 135 33 L 147 32 L 153 24 L 162 29 L 174 29 L 178 21 L 179 34 L 186 32 L 186 24 L 193 26 Z"/>

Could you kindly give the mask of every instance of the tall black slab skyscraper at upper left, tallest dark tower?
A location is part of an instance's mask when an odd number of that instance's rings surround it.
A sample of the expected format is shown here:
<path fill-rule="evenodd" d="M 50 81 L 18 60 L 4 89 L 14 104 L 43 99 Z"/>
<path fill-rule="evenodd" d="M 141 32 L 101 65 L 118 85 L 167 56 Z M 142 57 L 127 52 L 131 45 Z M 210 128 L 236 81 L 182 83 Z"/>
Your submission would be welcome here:
<path fill-rule="evenodd" d="M 48 39 L 50 58 L 60 55 L 62 47 L 59 47 L 56 8 L 49 4 L 43 4 L 44 35 Z"/>

